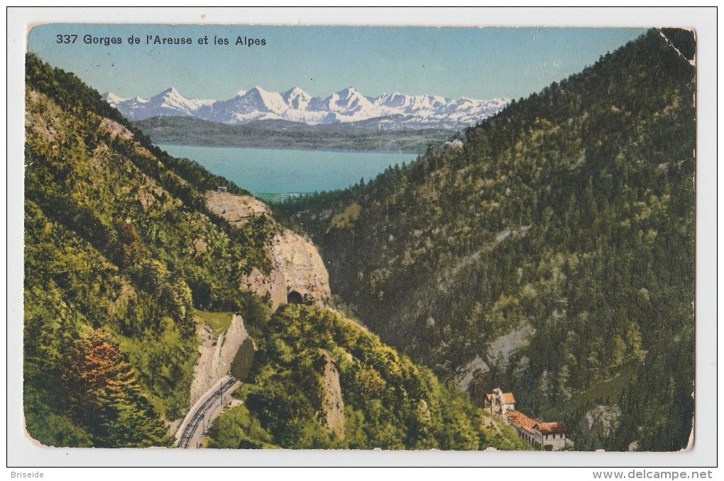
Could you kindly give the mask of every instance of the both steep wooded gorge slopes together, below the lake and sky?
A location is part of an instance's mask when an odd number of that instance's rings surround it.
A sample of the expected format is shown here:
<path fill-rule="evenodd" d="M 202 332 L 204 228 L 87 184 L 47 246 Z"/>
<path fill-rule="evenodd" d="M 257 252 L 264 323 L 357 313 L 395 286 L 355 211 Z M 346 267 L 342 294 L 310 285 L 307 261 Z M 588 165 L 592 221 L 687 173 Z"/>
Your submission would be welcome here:
<path fill-rule="evenodd" d="M 686 447 L 694 54 L 650 30 L 408 165 L 271 206 L 28 55 L 28 433 L 172 446 L 237 314 L 256 352 L 207 447 L 529 448 L 481 409 L 496 387 L 576 449 Z"/>

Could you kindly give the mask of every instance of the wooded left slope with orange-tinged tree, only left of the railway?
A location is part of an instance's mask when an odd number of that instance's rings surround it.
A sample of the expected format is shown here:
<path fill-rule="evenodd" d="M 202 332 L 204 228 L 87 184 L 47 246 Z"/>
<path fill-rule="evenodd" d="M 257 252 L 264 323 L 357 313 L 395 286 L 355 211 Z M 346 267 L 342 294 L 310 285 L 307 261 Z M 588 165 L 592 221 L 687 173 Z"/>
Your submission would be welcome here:
<path fill-rule="evenodd" d="M 26 59 L 25 416 L 55 446 L 167 445 L 188 410 L 192 307 L 259 302 L 261 216 L 232 228 L 203 192 L 225 185 L 155 148 L 75 75 Z"/>

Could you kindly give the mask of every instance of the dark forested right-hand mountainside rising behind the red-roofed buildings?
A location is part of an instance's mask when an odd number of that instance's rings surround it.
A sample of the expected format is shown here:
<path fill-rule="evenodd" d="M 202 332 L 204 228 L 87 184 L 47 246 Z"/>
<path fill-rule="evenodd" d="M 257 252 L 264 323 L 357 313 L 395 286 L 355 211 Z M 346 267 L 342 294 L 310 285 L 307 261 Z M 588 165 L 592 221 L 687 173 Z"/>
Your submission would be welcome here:
<path fill-rule="evenodd" d="M 350 190 L 283 212 L 340 305 L 576 449 L 686 446 L 694 401 L 695 40 L 655 29 Z"/>

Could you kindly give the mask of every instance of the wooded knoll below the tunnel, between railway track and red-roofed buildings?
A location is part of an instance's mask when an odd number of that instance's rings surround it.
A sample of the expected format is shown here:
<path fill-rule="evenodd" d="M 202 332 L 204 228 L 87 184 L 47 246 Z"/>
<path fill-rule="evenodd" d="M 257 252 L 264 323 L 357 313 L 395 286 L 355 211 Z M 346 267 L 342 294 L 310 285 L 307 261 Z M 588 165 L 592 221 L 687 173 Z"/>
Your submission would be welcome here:
<path fill-rule="evenodd" d="M 258 351 L 237 394 L 243 404 L 214 422 L 211 448 L 528 449 L 337 312 L 287 305 L 249 328 Z"/>

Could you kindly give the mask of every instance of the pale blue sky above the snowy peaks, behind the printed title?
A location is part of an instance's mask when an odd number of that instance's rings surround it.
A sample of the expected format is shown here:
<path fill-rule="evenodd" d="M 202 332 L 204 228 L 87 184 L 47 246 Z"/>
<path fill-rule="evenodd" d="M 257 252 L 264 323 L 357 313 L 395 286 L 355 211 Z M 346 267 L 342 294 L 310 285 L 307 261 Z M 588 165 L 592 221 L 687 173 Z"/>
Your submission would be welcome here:
<path fill-rule="evenodd" d="M 581 71 L 641 28 L 344 27 L 269 25 L 41 25 L 28 50 L 75 72 L 101 93 L 150 97 L 175 86 L 188 98 L 232 98 L 259 85 L 328 95 L 353 86 L 365 95 L 434 94 L 521 98 Z M 76 34 L 74 44 L 56 35 Z M 86 44 L 85 35 L 121 45 Z M 139 45 L 129 45 L 135 35 Z M 146 35 L 191 38 L 154 46 Z M 209 39 L 199 45 L 198 39 Z M 230 45 L 214 45 L 214 36 Z M 238 36 L 265 46 L 236 46 Z"/>

